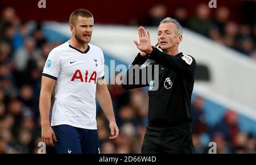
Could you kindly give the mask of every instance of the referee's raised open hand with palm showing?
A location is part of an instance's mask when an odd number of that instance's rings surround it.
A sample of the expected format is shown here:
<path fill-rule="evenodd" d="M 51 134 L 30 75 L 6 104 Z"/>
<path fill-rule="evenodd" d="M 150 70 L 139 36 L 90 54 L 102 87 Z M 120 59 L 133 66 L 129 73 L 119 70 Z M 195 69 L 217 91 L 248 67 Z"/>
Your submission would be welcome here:
<path fill-rule="evenodd" d="M 141 52 L 146 52 L 147 54 L 151 54 L 152 52 L 152 47 L 150 43 L 150 32 L 144 28 L 144 27 L 139 27 L 138 29 L 139 32 L 139 43 L 138 41 L 134 40 L 134 44 L 137 46 Z"/>

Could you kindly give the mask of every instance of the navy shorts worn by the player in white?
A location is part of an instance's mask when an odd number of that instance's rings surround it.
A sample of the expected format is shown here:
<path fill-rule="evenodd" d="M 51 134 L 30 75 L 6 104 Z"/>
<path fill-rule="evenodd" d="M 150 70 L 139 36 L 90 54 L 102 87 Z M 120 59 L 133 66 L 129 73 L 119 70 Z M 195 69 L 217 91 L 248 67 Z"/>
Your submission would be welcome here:
<path fill-rule="evenodd" d="M 54 143 L 58 154 L 98 154 L 100 146 L 97 130 L 71 125 L 52 126 L 57 137 Z"/>

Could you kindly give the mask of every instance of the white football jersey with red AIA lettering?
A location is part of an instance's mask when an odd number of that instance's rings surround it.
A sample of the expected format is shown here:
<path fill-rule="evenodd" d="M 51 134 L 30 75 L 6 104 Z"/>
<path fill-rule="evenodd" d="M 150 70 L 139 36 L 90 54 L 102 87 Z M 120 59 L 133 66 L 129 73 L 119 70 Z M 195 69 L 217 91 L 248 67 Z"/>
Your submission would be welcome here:
<path fill-rule="evenodd" d="M 88 44 L 81 52 L 66 42 L 49 53 L 43 75 L 56 79 L 51 125 L 97 129 L 95 98 L 97 79 L 104 78 L 102 50 Z"/>

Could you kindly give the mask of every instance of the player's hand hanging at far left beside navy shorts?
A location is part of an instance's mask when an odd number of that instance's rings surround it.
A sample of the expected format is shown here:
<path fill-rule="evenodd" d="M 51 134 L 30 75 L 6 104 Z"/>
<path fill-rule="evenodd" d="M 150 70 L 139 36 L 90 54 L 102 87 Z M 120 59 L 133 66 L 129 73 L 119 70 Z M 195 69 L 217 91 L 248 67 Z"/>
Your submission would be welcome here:
<path fill-rule="evenodd" d="M 42 126 L 42 140 L 49 146 L 54 146 L 53 140 L 57 142 L 57 138 L 51 126 Z"/>

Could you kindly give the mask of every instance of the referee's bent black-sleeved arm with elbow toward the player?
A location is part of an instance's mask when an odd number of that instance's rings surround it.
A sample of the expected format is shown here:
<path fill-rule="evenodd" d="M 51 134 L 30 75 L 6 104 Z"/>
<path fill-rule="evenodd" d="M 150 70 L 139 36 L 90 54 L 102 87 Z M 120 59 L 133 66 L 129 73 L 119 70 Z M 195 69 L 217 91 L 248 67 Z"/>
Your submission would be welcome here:
<path fill-rule="evenodd" d="M 122 87 L 126 90 L 134 89 L 134 88 L 141 88 L 148 86 L 147 83 L 147 67 L 139 68 L 147 58 L 143 57 L 141 53 L 135 57 L 133 63 L 127 70 L 127 73 L 123 77 Z M 142 74 L 146 74 L 146 80 L 142 81 Z M 145 83 L 142 83 L 145 82 Z"/>

